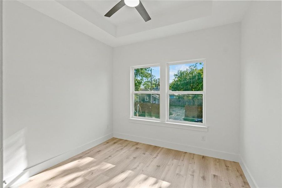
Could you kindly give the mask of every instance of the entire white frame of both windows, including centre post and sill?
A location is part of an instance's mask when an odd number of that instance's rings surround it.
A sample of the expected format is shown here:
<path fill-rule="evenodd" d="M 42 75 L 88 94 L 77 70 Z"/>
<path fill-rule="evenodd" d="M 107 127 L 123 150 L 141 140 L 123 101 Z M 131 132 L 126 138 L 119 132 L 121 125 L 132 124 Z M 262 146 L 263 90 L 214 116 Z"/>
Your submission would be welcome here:
<path fill-rule="evenodd" d="M 180 64 L 192 64 L 203 62 L 203 91 L 169 91 L 169 65 L 180 65 Z M 148 68 L 148 67 L 160 67 L 160 91 L 134 91 L 134 69 L 137 68 Z M 206 106 L 205 106 L 205 93 L 206 93 L 206 60 L 196 59 L 196 60 L 185 60 L 168 62 L 162 64 L 150 64 L 141 66 L 131 66 L 131 108 L 130 108 L 130 118 L 131 123 L 146 124 L 153 126 L 171 127 L 188 129 L 195 131 L 208 131 L 206 126 Z M 203 94 L 203 123 L 196 122 L 186 122 L 186 121 L 176 121 L 169 120 L 169 94 Z M 160 104 L 160 119 L 156 118 L 143 118 L 134 116 L 134 94 L 159 94 L 159 104 Z"/>

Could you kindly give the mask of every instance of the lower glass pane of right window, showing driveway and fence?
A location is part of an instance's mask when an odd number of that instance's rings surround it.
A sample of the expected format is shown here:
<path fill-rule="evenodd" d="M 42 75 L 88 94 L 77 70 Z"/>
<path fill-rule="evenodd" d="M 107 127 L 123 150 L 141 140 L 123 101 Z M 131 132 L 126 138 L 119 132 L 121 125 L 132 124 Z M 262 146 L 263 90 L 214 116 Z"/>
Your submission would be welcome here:
<path fill-rule="evenodd" d="M 169 119 L 203 123 L 203 95 L 170 94 Z"/>

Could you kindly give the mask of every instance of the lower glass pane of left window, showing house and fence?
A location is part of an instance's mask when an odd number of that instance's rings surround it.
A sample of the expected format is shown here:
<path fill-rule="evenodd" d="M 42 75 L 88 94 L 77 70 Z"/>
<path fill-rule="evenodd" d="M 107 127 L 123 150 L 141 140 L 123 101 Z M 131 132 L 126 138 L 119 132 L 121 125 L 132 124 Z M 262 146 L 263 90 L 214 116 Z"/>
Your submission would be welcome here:
<path fill-rule="evenodd" d="M 160 94 L 134 94 L 134 116 L 160 118 Z"/>

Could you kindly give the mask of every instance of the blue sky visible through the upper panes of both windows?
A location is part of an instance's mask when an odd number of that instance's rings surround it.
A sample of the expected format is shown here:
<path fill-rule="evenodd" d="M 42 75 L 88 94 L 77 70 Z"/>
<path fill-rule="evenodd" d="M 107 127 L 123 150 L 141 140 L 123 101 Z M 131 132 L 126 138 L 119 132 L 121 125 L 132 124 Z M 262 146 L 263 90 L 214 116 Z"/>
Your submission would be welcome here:
<path fill-rule="evenodd" d="M 186 70 L 189 65 L 192 65 L 193 63 L 190 64 L 181 64 L 181 65 L 170 65 L 169 66 L 169 83 L 172 82 L 174 79 L 174 74 L 177 73 L 177 70 Z M 203 65 L 197 64 L 197 68 L 201 69 L 203 68 Z M 151 67 L 152 68 L 152 75 L 155 75 L 156 78 L 160 78 L 160 67 Z"/>

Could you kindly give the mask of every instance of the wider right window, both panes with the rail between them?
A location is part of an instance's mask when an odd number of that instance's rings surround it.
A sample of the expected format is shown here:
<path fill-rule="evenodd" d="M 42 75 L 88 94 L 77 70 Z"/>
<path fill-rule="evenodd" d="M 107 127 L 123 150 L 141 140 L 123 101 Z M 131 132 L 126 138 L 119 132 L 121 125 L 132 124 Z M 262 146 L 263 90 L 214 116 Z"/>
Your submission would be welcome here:
<path fill-rule="evenodd" d="M 167 120 L 204 123 L 204 62 L 167 65 Z"/>

